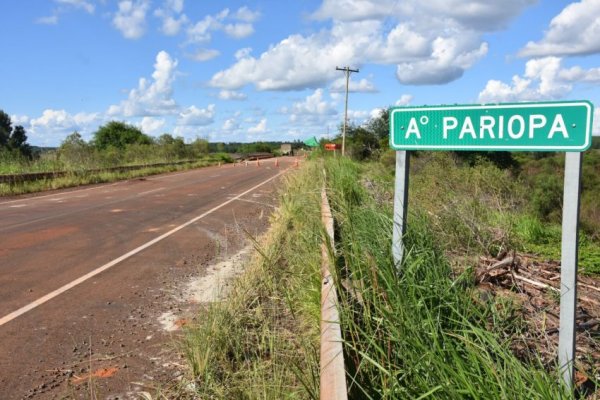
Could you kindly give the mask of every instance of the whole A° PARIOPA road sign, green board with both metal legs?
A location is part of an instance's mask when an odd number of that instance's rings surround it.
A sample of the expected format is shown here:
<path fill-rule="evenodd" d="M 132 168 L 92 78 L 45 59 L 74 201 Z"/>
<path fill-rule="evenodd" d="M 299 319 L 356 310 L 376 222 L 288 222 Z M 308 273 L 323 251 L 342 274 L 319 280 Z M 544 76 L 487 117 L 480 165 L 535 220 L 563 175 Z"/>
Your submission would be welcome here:
<path fill-rule="evenodd" d="M 475 104 L 390 109 L 390 147 L 396 150 L 392 254 L 400 268 L 405 249 L 409 150 L 566 152 L 561 243 L 558 361 L 573 390 L 577 306 L 581 152 L 591 145 L 589 101 Z"/>

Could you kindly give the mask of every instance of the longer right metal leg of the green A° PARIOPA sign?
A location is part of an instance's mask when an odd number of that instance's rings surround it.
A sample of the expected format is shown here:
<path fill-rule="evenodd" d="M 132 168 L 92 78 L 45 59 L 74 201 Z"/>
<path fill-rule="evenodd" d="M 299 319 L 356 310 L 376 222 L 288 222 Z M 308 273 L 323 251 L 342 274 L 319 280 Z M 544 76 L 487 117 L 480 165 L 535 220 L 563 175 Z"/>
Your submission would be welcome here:
<path fill-rule="evenodd" d="M 560 327 L 558 363 L 562 379 L 573 389 L 575 372 L 575 313 L 577 307 L 577 256 L 579 246 L 579 190 L 582 153 L 565 154 L 562 247 L 560 267 Z"/>

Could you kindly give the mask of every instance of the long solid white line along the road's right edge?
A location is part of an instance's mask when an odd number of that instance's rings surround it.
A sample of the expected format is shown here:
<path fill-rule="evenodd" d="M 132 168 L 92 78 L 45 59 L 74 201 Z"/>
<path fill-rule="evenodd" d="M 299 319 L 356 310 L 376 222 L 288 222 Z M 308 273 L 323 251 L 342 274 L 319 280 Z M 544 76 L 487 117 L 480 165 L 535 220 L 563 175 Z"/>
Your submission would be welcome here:
<path fill-rule="evenodd" d="M 185 222 L 184 224 L 179 225 L 178 227 L 171 229 L 169 232 L 164 233 L 164 234 L 162 234 L 162 235 L 160 235 L 160 236 L 152 239 L 151 241 L 149 241 L 149 242 L 147 242 L 147 243 L 145 243 L 145 244 L 143 244 L 143 245 L 141 245 L 141 246 L 139 246 L 139 247 L 131 250 L 129 253 L 123 254 L 121 257 L 115 258 L 114 260 L 112 260 L 112 261 L 104 264 L 103 266 L 98 267 L 98 268 L 96 268 L 95 270 L 93 270 L 91 272 L 88 272 L 87 274 L 83 275 L 82 277 L 77 278 L 77 279 L 75 279 L 74 281 L 72 281 L 70 283 L 67 283 L 66 285 L 64 285 L 64 286 L 62 286 L 62 287 L 60 287 L 60 288 L 58 288 L 58 289 L 56 289 L 56 290 L 48 293 L 45 296 L 40 297 L 37 300 L 32 301 L 31 303 L 27 304 L 26 306 L 23 306 L 23 307 L 19 308 L 18 310 L 11 312 L 8 315 L 5 315 L 4 317 L 0 318 L 0 326 L 2 326 L 4 324 L 12 321 L 15 318 L 20 317 L 21 315 L 23 315 L 23 314 L 25 314 L 25 313 L 33 310 L 34 308 L 36 308 L 38 306 L 41 306 L 42 304 L 44 304 L 44 303 L 52 300 L 53 298 L 55 298 L 55 297 L 63 294 L 67 290 L 72 289 L 75 286 L 77 286 L 77 285 L 79 285 L 79 284 L 87 281 L 88 279 L 93 278 L 94 276 L 96 276 L 96 275 L 98 275 L 98 274 L 106 271 L 107 269 L 109 269 L 111 267 L 114 267 L 115 265 L 119 264 L 121 261 L 124 261 L 124 260 L 126 260 L 126 259 L 128 259 L 128 258 L 130 258 L 130 257 L 132 257 L 132 256 L 134 256 L 136 254 L 138 254 L 139 252 L 141 252 L 141 251 L 147 249 L 148 247 L 150 247 L 150 246 L 152 246 L 152 245 L 160 242 L 161 240 L 163 240 L 163 239 L 165 239 L 165 238 L 173 235 L 174 233 L 179 232 L 183 228 L 185 228 L 185 227 L 193 224 L 194 222 L 196 222 L 196 221 L 198 221 L 198 220 L 206 217 L 207 215 L 212 214 L 213 212 L 215 212 L 215 211 L 217 211 L 217 210 L 225 207 L 226 205 L 232 203 L 233 201 L 238 200 L 240 197 L 242 197 L 242 196 L 244 196 L 244 195 L 246 195 L 246 194 L 248 194 L 248 193 L 250 193 L 250 192 L 252 192 L 252 191 L 254 191 L 256 189 L 258 189 L 259 187 L 261 187 L 264 184 L 266 184 L 266 183 L 272 181 L 273 179 L 279 177 L 280 175 L 282 175 L 285 172 L 286 171 L 281 171 L 277 175 L 272 176 L 271 178 L 269 178 L 269 179 L 267 179 L 265 181 L 262 181 L 258 185 L 251 187 L 250 189 L 246 190 L 244 193 L 241 193 L 240 195 L 238 195 L 238 196 L 236 196 L 236 197 L 234 197 L 234 198 L 232 198 L 230 200 L 227 200 L 227 201 L 219 204 L 216 207 L 211 208 L 210 210 L 206 211 L 205 213 L 200 214 L 197 217 L 194 217 L 194 218 L 190 219 L 189 221 Z"/>

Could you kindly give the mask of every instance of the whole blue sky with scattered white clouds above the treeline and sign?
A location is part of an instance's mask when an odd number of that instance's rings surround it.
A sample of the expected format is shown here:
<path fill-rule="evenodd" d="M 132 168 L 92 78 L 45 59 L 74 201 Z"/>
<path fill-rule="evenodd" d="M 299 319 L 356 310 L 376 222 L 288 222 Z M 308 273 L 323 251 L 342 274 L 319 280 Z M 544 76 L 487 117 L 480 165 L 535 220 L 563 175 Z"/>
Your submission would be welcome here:
<path fill-rule="evenodd" d="M 2 3 L 0 109 L 38 146 L 112 120 L 188 142 L 333 138 L 346 66 L 357 125 L 390 106 L 600 106 L 600 0 Z"/>

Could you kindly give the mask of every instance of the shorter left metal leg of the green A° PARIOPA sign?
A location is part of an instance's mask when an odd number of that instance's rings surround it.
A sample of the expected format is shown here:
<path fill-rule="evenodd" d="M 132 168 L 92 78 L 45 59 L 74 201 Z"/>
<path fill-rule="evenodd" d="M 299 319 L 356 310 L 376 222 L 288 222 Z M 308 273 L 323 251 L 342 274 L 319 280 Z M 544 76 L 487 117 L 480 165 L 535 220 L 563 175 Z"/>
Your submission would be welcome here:
<path fill-rule="evenodd" d="M 394 265 L 400 268 L 404 254 L 402 238 L 406 233 L 406 216 L 408 210 L 408 171 L 410 153 L 408 151 L 396 152 L 396 182 L 394 190 L 394 229 L 392 234 L 392 255 Z"/>

